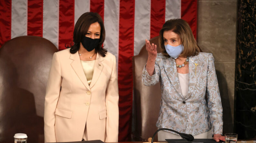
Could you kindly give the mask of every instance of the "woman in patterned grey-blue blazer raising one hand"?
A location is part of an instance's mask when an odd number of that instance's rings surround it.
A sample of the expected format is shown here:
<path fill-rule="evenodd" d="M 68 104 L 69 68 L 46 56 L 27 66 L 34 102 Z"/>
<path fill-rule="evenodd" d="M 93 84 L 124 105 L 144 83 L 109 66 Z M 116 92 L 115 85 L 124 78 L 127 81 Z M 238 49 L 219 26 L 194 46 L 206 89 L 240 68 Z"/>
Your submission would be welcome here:
<path fill-rule="evenodd" d="M 146 40 L 148 59 L 142 73 L 144 85 L 161 85 L 156 126 L 192 134 L 194 138 L 225 141 L 221 135 L 222 104 L 213 55 L 199 52 L 185 20 L 166 21 L 159 37 L 159 54 L 156 45 Z M 169 131 L 158 132 L 158 140 L 179 138 Z"/>

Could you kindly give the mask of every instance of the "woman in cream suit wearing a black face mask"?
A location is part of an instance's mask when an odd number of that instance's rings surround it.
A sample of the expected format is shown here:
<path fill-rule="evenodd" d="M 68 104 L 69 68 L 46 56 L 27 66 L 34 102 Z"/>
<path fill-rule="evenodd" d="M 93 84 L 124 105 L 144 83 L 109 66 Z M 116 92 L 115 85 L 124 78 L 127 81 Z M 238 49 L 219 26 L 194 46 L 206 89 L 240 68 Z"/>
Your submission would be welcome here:
<path fill-rule="evenodd" d="M 86 12 L 78 19 L 74 45 L 53 55 L 45 95 L 45 142 L 118 141 L 115 56 L 102 46 L 103 20 Z"/>

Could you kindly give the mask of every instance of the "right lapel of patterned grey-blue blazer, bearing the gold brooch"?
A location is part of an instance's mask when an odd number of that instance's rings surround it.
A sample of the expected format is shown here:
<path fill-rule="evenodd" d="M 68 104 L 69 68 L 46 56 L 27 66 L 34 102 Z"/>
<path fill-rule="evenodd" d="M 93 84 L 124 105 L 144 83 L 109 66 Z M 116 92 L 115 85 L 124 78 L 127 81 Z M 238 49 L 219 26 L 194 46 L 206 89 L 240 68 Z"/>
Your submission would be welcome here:
<path fill-rule="evenodd" d="M 201 69 L 200 60 L 197 56 L 189 57 L 188 96 L 196 94 L 196 83 Z"/>

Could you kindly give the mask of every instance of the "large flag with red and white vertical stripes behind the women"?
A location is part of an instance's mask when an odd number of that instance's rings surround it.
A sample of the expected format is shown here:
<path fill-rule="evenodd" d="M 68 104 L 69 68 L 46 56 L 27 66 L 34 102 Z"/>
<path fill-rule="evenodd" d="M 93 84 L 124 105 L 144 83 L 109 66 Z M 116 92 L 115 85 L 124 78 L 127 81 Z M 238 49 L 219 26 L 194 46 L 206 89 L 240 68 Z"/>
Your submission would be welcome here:
<path fill-rule="evenodd" d="M 17 36 L 33 35 L 63 50 L 72 42 L 75 22 L 89 11 L 98 12 L 104 20 L 105 48 L 117 58 L 119 141 L 129 141 L 132 56 L 172 18 L 186 20 L 196 37 L 197 0 L 1 0 L 0 46 Z"/>

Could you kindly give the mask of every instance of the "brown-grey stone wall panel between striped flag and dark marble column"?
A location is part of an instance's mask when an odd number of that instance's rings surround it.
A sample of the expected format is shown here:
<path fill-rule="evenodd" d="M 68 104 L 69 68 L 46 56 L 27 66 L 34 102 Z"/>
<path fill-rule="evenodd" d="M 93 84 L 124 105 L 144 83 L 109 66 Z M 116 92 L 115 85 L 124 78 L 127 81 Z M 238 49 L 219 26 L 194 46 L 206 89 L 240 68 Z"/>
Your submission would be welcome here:
<path fill-rule="evenodd" d="M 197 41 L 212 53 L 223 107 L 223 134 L 234 121 L 237 0 L 198 0 Z"/>

